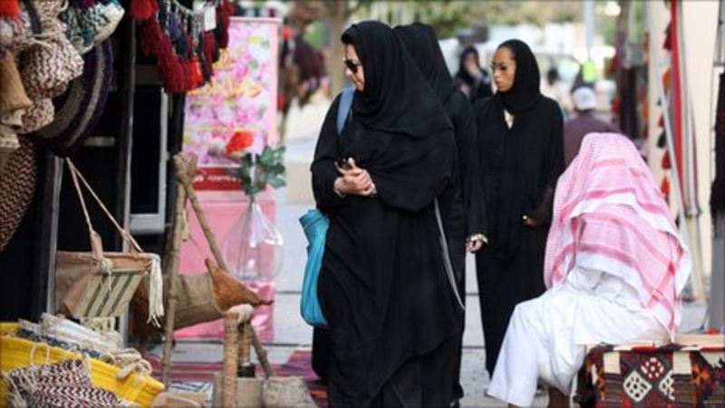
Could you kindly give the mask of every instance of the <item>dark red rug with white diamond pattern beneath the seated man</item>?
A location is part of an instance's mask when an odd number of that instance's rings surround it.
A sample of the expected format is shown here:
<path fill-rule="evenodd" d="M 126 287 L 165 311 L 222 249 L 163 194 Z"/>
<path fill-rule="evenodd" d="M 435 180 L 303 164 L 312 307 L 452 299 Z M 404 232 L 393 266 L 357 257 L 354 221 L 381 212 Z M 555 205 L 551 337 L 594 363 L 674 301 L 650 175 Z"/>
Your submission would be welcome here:
<path fill-rule="evenodd" d="M 597 346 L 579 373 L 575 401 L 597 408 L 725 406 L 725 346 Z"/>

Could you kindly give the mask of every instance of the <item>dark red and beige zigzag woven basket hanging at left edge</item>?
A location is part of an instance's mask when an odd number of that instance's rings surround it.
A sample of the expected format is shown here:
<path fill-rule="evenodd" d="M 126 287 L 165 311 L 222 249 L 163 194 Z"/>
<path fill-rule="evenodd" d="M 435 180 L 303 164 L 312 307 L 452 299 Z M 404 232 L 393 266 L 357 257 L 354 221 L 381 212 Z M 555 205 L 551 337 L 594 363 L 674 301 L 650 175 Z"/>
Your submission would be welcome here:
<path fill-rule="evenodd" d="M 33 142 L 21 139 L 0 174 L 0 252 L 3 251 L 33 200 L 37 163 Z"/>

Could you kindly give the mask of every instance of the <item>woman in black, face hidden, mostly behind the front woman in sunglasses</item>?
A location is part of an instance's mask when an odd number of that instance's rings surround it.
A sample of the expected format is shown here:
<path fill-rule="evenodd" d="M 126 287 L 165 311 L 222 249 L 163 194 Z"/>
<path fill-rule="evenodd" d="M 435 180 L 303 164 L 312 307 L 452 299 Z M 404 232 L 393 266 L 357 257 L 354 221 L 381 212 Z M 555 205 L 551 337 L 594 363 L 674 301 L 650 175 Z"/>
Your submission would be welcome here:
<path fill-rule="evenodd" d="M 476 252 L 485 244 L 486 226 L 481 186 L 478 182 L 478 149 L 476 123 L 468 96 L 461 92 L 450 77 L 438 38 L 430 25 L 414 23 L 395 27 L 409 53 L 430 86 L 438 95 L 453 124 L 459 158 L 459 182 L 453 184 L 440 199 L 449 242 L 450 260 L 456 273 L 461 295 L 466 293 L 466 249 Z M 465 299 L 465 296 L 462 296 Z M 460 353 L 465 319 L 460 315 L 461 332 L 453 381 L 453 400 L 463 397 L 459 384 Z"/>

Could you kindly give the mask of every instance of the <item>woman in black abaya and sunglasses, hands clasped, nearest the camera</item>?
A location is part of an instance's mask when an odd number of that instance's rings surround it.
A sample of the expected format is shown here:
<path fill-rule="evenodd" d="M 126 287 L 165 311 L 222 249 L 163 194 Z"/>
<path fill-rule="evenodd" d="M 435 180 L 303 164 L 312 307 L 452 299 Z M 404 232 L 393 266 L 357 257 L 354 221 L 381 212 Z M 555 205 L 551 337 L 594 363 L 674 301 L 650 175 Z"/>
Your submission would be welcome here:
<path fill-rule="evenodd" d="M 343 34 L 355 85 L 342 134 L 339 98 L 312 165 L 330 218 L 318 295 L 330 323 L 331 406 L 442 406 L 459 332 L 434 199 L 455 174 L 448 118 L 390 27 Z"/>

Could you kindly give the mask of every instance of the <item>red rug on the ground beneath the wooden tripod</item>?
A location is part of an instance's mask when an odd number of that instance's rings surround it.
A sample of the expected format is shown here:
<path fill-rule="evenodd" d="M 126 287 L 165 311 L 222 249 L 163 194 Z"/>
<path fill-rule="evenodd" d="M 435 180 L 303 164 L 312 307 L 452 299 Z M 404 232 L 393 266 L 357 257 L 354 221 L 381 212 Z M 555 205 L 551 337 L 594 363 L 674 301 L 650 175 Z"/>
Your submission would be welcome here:
<path fill-rule="evenodd" d="M 146 355 L 153 368 L 153 376 L 161 378 L 161 357 L 158 355 Z M 273 364 L 272 369 L 278 376 L 296 375 L 302 377 L 314 403 L 318 407 L 327 407 L 327 387 L 312 369 L 312 352 L 309 349 L 295 350 L 285 364 Z M 185 389 L 192 391 L 196 388 L 204 388 L 205 384 L 211 384 L 214 374 L 222 371 L 222 364 L 214 363 L 192 363 L 175 362 L 171 365 L 171 382 L 174 389 Z M 263 377 L 262 367 L 256 366 L 256 376 Z"/>

